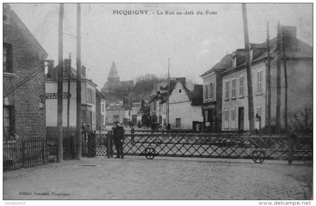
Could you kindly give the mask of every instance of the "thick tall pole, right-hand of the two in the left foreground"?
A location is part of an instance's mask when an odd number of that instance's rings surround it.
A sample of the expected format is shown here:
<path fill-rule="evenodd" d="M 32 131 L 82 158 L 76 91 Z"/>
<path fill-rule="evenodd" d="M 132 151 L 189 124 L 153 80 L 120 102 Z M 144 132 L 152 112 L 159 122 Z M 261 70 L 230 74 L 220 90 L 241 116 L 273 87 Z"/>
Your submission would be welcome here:
<path fill-rule="evenodd" d="M 81 25 L 81 8 L 80 3 L 77 3 L 77 114 L 76 114 L 76 160 L 81 160 L 81 151 L 82 151 L 82 134 L 81 134 L 81 34 L 80 34 L 80 25 Z"/>

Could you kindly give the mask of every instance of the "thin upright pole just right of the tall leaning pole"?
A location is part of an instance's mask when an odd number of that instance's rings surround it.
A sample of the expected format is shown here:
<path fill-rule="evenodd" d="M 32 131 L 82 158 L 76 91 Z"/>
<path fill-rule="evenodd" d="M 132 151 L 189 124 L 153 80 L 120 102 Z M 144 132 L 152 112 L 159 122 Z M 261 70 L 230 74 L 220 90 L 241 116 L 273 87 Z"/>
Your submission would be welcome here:
<path fill-rule="evenodd" d="M 267 21 L 267 71 L 265 73 L 266 79 L 266 110 L 265 110 L 265 124 L 271 124 L 271 82 L 270 82 L 270 37 L 269 37 L 269 21 Z"/>

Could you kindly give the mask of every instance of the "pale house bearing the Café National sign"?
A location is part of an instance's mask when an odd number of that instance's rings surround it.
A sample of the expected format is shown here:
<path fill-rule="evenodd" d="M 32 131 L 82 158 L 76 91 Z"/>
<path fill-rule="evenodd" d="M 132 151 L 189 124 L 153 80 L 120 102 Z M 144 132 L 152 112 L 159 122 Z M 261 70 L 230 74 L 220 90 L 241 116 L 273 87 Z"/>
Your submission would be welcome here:
<path fill-rule="evenodd" d="M 65 62 L 63 71 L 63 126 L 67 126 L 67 98 L 70 95 L 70 127 L 76 127 L 76 70 L 70 66 L 70 94 L 68 94 L 68 68 L 70 62 Z M 58 65 L 48 66 L 48 73 L 45 79 L 45 99 L 46 99 L 46 125 L 57 126 L 57 78 Z M 81 74 L 81 120 L 91 125 L 91 129 L 96 129 L 96 84 L 91 79 L 86 78 L 86 67 L 82 66 Z"/>

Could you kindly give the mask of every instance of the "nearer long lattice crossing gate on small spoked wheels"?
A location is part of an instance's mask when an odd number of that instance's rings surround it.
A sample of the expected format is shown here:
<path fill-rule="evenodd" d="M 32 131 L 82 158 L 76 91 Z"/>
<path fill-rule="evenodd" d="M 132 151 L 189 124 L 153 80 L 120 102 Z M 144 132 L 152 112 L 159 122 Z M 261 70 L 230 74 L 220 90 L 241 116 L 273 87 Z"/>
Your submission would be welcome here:
<path fill-rule="evenodd" d="M 112 134 L 96 134 L 95 155 L 106 156 Z M 109 147 L 110 148 L 110 147 Z M 125 134 L 125 155 L 260 160 L 313 160 L 313 135 L 256 134 Z M 116 154 L 113 145 L 113 152 Z"/>

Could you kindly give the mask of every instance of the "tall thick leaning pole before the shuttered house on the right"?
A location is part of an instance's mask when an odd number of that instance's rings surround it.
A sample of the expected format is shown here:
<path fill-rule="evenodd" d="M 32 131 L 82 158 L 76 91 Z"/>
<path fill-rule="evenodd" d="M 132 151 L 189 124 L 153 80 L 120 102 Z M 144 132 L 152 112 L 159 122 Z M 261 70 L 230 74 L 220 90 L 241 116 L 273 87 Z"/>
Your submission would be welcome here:
<path fill-rule="evenodd" d="M 243 17 L 243 23 L 244 23 L 244 36 L 245 36 L 245 49 L 246 49 L 246 73 L 247 73 L 247 88 L 248 88 L 249 130 L 254 130 L 255 123 L 254 123 L 253 98 L 252 98 L 251 59 L 250 59 L 250 50 L 249 50 L 249 36 L 248 36 L 246 3 L 242 3 L 242 17 Z"/>

